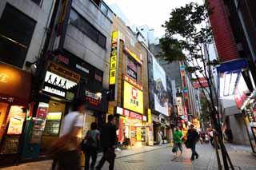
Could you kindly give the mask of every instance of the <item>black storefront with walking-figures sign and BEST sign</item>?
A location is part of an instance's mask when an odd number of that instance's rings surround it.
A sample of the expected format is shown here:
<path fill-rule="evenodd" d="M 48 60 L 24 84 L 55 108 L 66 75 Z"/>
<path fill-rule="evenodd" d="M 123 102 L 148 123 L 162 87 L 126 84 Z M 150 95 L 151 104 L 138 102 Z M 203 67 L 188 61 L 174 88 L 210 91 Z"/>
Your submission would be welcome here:
<path fill-rule="evenodd" d="M 102 79 L 102 71 L 71 53 L 54 56 L 46 67 L 38 103 L 32 109 L 34 113 L 26 128 L 22 158 L 34 159 L 46 153 L 50 144 L 58 139 L 63 117 L 73 110 L 75 98 L 86 101 L 84 132 L 90 129 L 90 123 L 101 122 L 107 110 Z"/>

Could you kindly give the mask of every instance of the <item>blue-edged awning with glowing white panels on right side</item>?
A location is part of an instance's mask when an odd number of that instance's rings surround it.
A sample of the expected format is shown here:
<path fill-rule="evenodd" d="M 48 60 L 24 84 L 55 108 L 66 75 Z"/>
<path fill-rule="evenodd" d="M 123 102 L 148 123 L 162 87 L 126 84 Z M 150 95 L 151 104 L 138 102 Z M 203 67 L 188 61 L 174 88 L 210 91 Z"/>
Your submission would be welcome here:
<path fill-rule="evenodd" d="M 220 98 L 234 95 L 234 90 L 238 84 L 242 69 L 246 69 L 247 66 L 248 63 L 246 59 L 239 59 L 222 63 L 217 67 Z"/>

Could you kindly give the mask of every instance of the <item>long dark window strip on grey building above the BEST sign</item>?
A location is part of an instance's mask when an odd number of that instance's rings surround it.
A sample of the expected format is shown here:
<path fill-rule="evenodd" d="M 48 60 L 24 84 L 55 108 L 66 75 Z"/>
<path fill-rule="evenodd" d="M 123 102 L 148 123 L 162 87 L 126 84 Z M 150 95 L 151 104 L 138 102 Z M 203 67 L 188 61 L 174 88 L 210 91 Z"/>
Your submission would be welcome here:
<path fill-rule="evenodd" d="M 105 49 L 106 37 L 74 10 L 70 12 L 70 24 Z"/>

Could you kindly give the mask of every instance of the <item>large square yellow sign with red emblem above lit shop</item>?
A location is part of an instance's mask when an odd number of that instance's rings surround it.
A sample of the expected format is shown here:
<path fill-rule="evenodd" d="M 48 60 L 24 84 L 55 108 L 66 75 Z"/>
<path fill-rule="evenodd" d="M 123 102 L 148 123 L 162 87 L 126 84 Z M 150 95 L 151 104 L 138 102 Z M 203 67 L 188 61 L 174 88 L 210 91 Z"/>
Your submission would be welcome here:
<path fill-rule="evenodd" d="M 143 114 L 143 93 L 141 90 L 124 81 L 123 107 L 136 113 Z"/>

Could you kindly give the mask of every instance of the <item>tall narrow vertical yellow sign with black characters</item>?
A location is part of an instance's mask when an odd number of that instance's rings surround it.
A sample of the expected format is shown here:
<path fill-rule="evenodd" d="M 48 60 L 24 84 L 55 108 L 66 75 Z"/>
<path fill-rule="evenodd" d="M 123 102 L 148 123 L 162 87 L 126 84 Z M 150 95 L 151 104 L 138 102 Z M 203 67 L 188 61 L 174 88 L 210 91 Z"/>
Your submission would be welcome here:
<path fill-rule="evenodd" d="M 118 59 L 118 31 L 114 31 L 112 34 L 112 50 L 110 56 L 110 85 L 115 84 L 117 59 Z"/>

